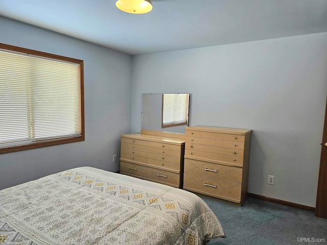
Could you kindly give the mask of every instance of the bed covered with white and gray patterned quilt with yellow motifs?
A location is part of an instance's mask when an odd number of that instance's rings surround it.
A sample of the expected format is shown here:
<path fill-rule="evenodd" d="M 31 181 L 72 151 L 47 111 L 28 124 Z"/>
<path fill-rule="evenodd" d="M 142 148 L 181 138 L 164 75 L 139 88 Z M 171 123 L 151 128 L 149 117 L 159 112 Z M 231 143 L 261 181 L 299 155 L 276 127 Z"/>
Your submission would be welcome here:
<path fill-rule="evenodd" d="M 93 167 L 0 191 L 0 244 L 202 244 L 224 237 L 194 193 Z"/>

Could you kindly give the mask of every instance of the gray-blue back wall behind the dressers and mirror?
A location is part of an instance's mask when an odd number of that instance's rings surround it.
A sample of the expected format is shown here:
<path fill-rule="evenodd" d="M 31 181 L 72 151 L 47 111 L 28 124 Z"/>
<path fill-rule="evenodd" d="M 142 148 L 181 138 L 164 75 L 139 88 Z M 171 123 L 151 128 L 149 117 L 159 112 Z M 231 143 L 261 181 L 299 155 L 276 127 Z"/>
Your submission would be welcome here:
<path fill-rule="evenodd" d="M 191 93 L 191 126 L 252 129 L 248 192 L 315 207 L 327 33 L 133 56 L 132 132 L 142 93 Z"/>

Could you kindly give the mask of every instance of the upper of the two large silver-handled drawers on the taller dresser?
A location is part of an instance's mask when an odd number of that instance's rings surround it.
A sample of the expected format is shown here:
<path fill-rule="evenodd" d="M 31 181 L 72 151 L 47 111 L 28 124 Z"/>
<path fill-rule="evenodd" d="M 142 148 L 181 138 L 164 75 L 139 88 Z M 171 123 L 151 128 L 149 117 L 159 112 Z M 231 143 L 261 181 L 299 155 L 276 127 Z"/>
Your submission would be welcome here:
<path fill-rule="evenodd" d="M 200 175 L 203 178 L 229 181 L 236 184 L 242 183 L 242 167 L 216 164 L 193 159 L 185 159 L 184 173 L 190 175 Z"/>

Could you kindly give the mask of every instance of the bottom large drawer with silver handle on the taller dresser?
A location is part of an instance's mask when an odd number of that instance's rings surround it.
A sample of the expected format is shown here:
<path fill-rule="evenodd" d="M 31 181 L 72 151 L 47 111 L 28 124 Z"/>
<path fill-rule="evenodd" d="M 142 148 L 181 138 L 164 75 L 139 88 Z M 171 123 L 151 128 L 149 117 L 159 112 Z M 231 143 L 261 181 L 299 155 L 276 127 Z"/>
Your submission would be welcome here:
<path fill-rule="evenodd" d="M 183 189 L 240 203 L 241 184 L 184 172 Z"/>

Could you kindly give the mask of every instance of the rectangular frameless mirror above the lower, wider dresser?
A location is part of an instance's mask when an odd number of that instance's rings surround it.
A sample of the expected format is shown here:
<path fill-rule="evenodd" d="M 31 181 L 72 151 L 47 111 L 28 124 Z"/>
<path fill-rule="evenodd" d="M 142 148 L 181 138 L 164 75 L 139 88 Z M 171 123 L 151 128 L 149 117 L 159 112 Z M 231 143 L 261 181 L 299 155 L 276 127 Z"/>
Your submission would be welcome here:
<path fill-rule="evenodd" d="M 142 129 L 185 134 L 189 102 L 188 93 L 143 93 Z"/>

